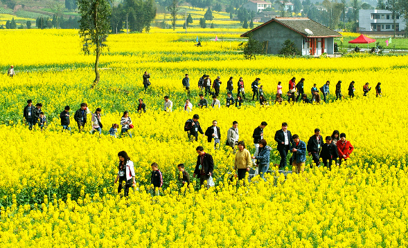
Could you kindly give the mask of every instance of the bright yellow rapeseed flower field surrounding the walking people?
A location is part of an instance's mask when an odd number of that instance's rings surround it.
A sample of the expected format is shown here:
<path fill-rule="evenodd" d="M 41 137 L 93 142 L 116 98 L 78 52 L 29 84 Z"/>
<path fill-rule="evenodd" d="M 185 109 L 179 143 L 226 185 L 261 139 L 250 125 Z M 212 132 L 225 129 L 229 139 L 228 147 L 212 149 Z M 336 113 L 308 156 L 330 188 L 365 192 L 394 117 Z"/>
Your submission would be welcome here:
<path fill-rule="evenodd" d="M 0 32 L 0 247 L 407 247 L 407 56 L 356 55 L 343 58 L 258 56 L 245 60 L 238 50 L 242 30 L 213 33 L 154 29 L 149 34 L 110 35 L 100 58 L 101 81 L 94 79 L 94 56 L 83 55 L 78 30 L 3 30 Z M 202 47 L 194 46 L 196 37 Z M 213 41 L 215 36 L 218 41 Z M 15 66 L 16 76 L 6 75 Z M 143 90 L 144 71 L 152 85 Z M 181 79 L 190 75 L 191 93 Z M 204 73 L 221 77 L 220 109 L 197 108 L 197 82 Z M 260 77 L 269 106 L 246 101 L 225 106 L 225 84 L 243 77 L 247 98 Z M 305 78 L 305 93 L 330 80 L 327 104 L 273 104 L 276 85 Z M 356 97 L 335 101 L 355 81 Z M 373 89 L 362 95 L 363 85 Z M 382 83 L 382 97 L 375 85 Z M 163 96 L 173 111 L 162 111 Z M 137 113 L 143 98 L 147 112 Z M 193 111 L 183 111 L 190 98 Z M 29 131 L 22 120 L 27 99 L 41 102 L 48 126 Z M 208 97 L 210 100 L 210 98 Z M 286 98 L 285 98 L 286 99 Z M 73 114 L 86 102 L 102 108 L 103 134 L 78 133 Z M 61 132 L 59 114 L 71 106 L 72 132 Z M 133 137 L 107 133 L 129 111 Z M 199 115 L 202 127 L 218 121 L 220 150 L 199 135 L 189 143 L 187 119 Z M 90 119 L 90 115 L 88 116 Z M 242 186 L 233 175 L 233 154 L 224 146 L 236 120 L 240 140 L 254 153 L 252 133 L 268 123 L 265 140 L 272 146 L 272 174 Z M 307 142 L 314 128 L 321 135 L 346 133 L 355 151 L 341 168 L 307 168 L 287 178 L 274 133 L 281 123 Z M 120 128 L 118 130 L 120 132 Z M 215 187 L 199 189 L 193 180 L 180 189 L 177 164 L 193 175 L 197 153 L 213 155 Z M 118 152 L 134 162 L 136 187 L 121 198 L 114 184 Z M 150 194 L 150 164 L 163 173 L 161 195 Z M 287 166 L 291 170 L 292 166 Z"/>

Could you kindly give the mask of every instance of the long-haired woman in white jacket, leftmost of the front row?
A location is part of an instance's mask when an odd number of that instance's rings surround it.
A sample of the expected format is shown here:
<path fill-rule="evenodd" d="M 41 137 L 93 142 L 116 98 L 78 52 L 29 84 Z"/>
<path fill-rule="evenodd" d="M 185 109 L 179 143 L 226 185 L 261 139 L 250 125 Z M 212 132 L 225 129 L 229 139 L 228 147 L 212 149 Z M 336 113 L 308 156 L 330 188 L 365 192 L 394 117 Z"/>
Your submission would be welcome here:
<path fill-rule="evenodd" d="M 118 193 L 121 193 L 123 189 L 122 184 L 125 182 L 124 196 L 127 197 L 127 195 L 129 195 L 130 187 L 136 186 L 136 181 L 134 180 L 134 164 L 125 151 L 120 151 L 118 157 L 118 174 L 116 175 L 114 183 L 116 184 L 119 180 Z"/>

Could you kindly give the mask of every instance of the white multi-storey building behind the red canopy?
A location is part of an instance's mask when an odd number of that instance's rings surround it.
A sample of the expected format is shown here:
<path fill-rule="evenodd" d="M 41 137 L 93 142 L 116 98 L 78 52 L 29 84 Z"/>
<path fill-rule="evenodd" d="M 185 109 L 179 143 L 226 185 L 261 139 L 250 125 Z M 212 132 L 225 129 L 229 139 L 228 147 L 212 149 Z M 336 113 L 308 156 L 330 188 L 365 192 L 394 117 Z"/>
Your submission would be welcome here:
<path fill-rule="evenodd" d="M 360 10 L 358 16 L 360 31 L 393 31 L 394 20 L 389 10 Z M 396 31 L 405 30 L 405 19 L 396 15 Z"/>

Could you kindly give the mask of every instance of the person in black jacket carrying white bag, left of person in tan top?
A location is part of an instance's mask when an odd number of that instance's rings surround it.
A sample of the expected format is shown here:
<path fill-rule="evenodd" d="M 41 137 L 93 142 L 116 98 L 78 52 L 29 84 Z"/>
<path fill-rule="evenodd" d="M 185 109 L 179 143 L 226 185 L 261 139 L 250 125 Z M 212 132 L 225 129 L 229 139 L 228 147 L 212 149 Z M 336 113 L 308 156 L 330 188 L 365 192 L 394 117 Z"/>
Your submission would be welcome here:
<path fill-rule="evenodd" d="M 202 186 L 204 181 L 209 180 L 210 176 L 213 175 L 214 170 L 214 160 L 213 156 L 209 153 L 204 152 L 204 148 L 202 146 L 197 146 L 198 156 L 197 156 L 197 164 L 195 165 L 195 170 L 193 173 L 193 178 L 197 175 L 199 178 L 199 185 Z"/>

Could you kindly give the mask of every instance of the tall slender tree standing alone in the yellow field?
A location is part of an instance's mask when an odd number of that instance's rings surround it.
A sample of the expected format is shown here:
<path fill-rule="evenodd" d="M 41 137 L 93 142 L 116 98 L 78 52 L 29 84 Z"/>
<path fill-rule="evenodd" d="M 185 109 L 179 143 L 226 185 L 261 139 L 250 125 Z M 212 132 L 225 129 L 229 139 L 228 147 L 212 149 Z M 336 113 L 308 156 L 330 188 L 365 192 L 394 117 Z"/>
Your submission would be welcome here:
<path fill-rule="evenodd" d="M 77 0 L 80 12 L 80 37 L 84 46 L 82 50 L 89 54 L 89 48 L 93 47 L 96 53 L 95 59 L 95 79 L 91 86 L 94 88 L 100 79 L 99 57 L 103 41 L 109 34 L 109 17 L 111 16 L 111 6 L 107 0 Z"/>

